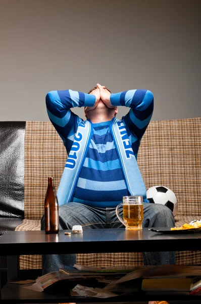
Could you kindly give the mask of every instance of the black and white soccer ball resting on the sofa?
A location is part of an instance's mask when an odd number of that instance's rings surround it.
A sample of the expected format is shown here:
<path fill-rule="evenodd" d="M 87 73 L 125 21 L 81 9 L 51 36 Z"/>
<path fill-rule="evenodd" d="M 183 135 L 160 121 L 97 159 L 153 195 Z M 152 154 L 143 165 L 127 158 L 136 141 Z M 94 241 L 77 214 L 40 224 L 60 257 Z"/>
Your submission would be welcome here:
<path fill-rule="evenodd" d="M 177 198 L 172 190 L 165 186 L 153 186 L 146 191 L 149 203 L 166 205 L 175 216 L 178 211 Z"/>

